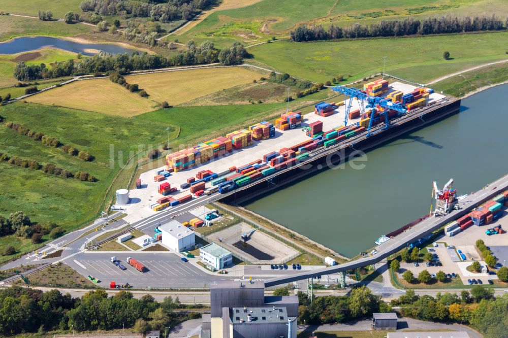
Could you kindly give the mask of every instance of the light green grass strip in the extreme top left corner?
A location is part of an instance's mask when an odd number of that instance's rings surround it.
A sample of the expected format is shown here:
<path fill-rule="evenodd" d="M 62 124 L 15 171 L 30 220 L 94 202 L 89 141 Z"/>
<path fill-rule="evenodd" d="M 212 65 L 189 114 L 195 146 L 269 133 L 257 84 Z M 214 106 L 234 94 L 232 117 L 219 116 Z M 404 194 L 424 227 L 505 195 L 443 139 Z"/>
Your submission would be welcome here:
<path fill-rule="evenodd" d="M 53 18 L 63 18 L 69 11 L 81 13 L 80 2 L 81 0 L 0 0 L 0 8 L 4 12 L 30 16 L 37 16 L 39 11 L 50 10 Z"/>

